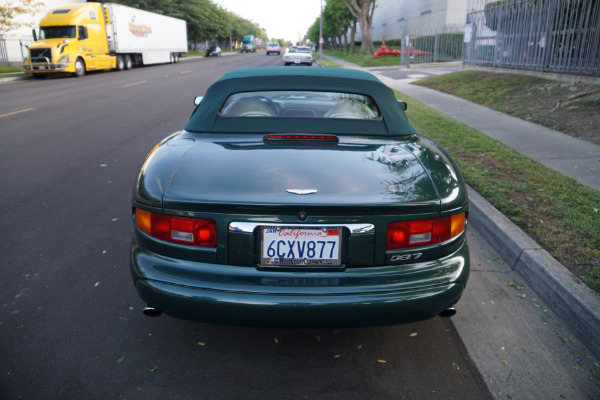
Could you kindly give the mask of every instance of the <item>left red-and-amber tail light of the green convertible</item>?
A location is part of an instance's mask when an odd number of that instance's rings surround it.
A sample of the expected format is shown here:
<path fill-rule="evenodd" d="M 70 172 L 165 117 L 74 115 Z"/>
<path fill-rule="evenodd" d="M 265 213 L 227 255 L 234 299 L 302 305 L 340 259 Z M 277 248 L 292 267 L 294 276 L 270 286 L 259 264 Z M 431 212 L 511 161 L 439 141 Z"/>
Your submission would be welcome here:
<path fill-rule="evenodd" d="M 217 227 L 209 219 L 176 217 L 136 208 L 135 224 L 142 232 L 167 242 L 217 247 Z"/>

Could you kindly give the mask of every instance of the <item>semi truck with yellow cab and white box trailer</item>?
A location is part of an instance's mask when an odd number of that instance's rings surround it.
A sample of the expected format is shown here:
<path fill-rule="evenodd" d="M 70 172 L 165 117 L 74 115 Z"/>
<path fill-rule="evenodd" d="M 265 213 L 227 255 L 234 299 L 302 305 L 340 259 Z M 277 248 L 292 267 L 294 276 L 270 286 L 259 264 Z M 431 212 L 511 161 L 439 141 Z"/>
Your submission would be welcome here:
<path fill-rule="evenodd" d="M 184 20 L 114 3 L 51 9 L 33 34 L 22 69 L 36 78 L 176 63 L 187 52 Z"/>

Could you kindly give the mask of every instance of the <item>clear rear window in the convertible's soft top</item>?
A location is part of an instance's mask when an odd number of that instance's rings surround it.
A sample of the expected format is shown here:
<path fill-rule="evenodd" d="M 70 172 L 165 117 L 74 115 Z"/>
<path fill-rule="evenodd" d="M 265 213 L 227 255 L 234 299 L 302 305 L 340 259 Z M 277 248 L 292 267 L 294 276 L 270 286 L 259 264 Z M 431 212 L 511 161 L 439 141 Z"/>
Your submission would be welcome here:
<path fill-rule="evenodd" d="M 341 118 L 379 120 L 379 108 L 369 96 L 317 91 L 235 93 L 219 116 L 226 118 Z"/>

